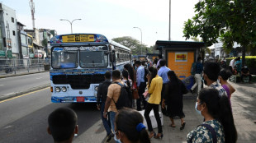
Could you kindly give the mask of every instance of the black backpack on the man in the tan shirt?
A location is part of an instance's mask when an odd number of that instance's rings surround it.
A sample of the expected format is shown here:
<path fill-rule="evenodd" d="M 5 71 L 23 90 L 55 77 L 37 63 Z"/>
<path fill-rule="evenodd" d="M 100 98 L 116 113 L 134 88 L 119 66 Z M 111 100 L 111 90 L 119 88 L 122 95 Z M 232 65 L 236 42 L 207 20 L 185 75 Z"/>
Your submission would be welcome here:
<path fill-rule="evenodd" d="M 117 84 L 117 85 L 121 85 L 121 91 L 120 91 L 120 96 L 119 98 L 117 99 L 117 101 L 115 102 L 114 99 L 112 99 L 116 105 L 116 109 L 119 110 L 123 107 L 126 107 L 126 108 L 131 108 L 131 90 L 130 88 L 128 87 L 128 85 L 126 85 L 124 83 L 124 85 L 122 85 L 121 83 L 119 82 L 114 82 L 114 84 Z"/>

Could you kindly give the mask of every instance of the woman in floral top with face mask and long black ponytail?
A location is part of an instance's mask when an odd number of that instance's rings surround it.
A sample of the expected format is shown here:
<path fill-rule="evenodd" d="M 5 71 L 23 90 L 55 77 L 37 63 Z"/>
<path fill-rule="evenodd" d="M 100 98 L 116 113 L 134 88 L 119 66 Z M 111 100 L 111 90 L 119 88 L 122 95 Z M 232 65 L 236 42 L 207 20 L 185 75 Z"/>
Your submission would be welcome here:
<path fill-rule="evenodd" d="M 211 87 L 204 88 L 197 97 L 195 109 L 205 121 L 187 134 L 187 142 L 237 141 L 237 131 L 227 96 L 219 96 L 218 90 Z"/>

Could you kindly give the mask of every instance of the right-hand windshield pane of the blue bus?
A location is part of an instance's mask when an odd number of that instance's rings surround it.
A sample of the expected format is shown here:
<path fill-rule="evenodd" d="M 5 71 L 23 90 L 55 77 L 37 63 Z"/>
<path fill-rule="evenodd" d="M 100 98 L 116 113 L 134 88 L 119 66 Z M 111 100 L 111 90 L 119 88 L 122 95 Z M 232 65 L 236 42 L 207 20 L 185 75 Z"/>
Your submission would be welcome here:
<path fill-rule="evenodd" d="M 80 51 L 80 67 L 107 67 L 104 51 Z"/>

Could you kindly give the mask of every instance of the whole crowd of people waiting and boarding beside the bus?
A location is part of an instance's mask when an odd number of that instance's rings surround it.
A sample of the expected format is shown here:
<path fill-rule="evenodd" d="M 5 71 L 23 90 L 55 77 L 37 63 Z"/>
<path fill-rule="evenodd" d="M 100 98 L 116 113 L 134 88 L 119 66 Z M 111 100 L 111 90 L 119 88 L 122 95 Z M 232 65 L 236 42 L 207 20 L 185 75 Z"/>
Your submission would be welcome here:
<path fill-rule="evenodd" d="M 193 90 L 197 87 L 195 112 L 201 114 L 204 121 L 187 134 L 187 142 L 236 142 L 237 132 L 230 102 L 235 89 L 227 82 L 231 75 L 231 71 L 227 69 L 220 70 L 217 62 L 202 64 L 200 57 L 197 58 L 195 71 L 196 84 L 192 89 L 187 89 L 175 71 L 166 67 L 166 61 L 161 56 L 149 64 L 135 61 L 133 66 L 126 64 L 122 71 L 107 71 L 104 75 L 105 81 L 99 85 L 97 91 L 97 109 L 101 111 L 107 141 L 114 138 L 116 142 L 149 143 L 152 137 L 162 139 L 164 132 L 159 107 L 161 112 L 170 118 L 169 127 L 176 127 L 174 118 L 180 118 L 179 128 L 183 130 L 186 125 L 183 95 L 187 94 L 188 90 L 194 93 Z M 201 77 L 207 85 L 206 88 L 201 89 Z M 116 103 L 121 99 L 123 86 L 130 90 L 131 94 L 127 100 L 130 107 L 117 109 Z M 138 112 L 141 110 L 145 110 L 144 114 Z M 154 132 L 149 118 L 152 110 L 157 122 L 157 133 Z M 58 133 L 58 126 L 64 125 L 59 120 L 67 118 L 66 116 L 71 116 L 66 122 L 72 123 L 66 123 L 69 125 L 69 135 L 65 135 L 69 137 L 63 138 L 62 141 L 72 141 L 78 132 L 76 114 L 68 108 L 57 109 L 50 114 L 48 129 L 56 142 L 60 141 L 60 134 L 64 131 Z M 148 130 L 143 124 L 144 118 Z"/>

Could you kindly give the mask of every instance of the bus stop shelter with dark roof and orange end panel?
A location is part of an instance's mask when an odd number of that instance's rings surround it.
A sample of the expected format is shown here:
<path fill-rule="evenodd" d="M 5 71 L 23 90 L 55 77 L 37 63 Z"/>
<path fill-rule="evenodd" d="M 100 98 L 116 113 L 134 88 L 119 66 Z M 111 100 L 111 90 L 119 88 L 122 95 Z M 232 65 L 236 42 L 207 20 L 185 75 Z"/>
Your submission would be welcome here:
<path fill-rule="evenodd" d="M 155 45 L 166 60 L 166 66 L 181 80 L 191 76 L 192 63 L 197 62 L 198 56 L 204 58 L 203 42 L 157 40 Z"/>

